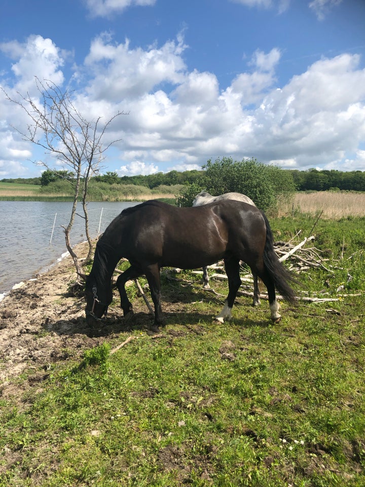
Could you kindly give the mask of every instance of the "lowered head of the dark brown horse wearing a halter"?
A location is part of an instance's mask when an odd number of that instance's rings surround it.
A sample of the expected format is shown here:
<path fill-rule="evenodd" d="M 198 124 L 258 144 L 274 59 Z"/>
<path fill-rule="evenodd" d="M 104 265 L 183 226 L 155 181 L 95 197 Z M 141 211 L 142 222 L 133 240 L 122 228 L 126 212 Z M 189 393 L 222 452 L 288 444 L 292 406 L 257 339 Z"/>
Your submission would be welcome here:
<path fill-rule="evenodd" d="M 113 292 L 110 286 L 108 289 L 97 287 L 95 281 L 89 276 L 86 280 L 85 298 L 86 323 L 93 326 L 101 317 L 106 316 L 107 308 L 113 300 Z"/>

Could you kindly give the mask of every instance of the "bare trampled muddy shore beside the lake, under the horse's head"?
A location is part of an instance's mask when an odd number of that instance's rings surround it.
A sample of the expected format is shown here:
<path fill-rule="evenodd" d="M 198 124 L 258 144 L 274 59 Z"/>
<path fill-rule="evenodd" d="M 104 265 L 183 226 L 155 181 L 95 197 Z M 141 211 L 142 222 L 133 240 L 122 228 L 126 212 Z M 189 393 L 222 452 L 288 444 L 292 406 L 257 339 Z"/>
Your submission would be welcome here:
<path fill-rule="evenodd" d="M 85 244 L 76 247 L 77 255 L 83 255 L 83 246 L 86 248 Z M 78 358 L 106 336 L 113 337 L 128 329 L 118 307 L 113 308 L 100 329 L 88 327 L 82 293 L 75 296 L 69 291 L 70 284 L 76 280 L 70 257 L 35 278 L 0 302 L 0 393 L 3 394 L 14 386 L 16 377 L 23 371 L 47 370 L 55 361 Z M 152 318 L 147 307 L 141 311 L 137 315 L 139 326 L 148 328 Z"/>

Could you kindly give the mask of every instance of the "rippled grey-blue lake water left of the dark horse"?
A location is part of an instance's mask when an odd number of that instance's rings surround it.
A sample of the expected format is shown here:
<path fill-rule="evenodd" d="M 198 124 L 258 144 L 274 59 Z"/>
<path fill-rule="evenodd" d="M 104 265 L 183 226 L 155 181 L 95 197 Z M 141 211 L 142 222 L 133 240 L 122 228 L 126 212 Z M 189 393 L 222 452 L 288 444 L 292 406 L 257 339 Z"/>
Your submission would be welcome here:
<path fill-rule="evenodd" d="M 90 235 L 102 233 L 124 208 L 136 204 L 88 203 Z M 46 270 L 66 252 L 62 225 L 67 226 L 71 208 L 71 202 L 0 201 L 0 299 L 14 284 Z M 83 214 L 81 203 L 77 213 Z M 80 216 L 76 216 L 70 235 L 72 247 L 86 240 Z"/>

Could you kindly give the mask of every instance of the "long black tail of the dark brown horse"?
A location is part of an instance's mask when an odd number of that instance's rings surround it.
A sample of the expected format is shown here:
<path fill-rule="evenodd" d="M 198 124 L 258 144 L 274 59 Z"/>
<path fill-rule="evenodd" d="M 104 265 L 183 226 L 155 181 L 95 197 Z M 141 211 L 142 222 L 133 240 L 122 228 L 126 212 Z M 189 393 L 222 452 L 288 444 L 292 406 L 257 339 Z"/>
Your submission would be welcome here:
<path fill-rule="evenodd" d="M 264 250 L 264 264 L 273 280 L 276 290 L 290 303 L 296 303 L 297 297 L 289 283 L 299 284 L 295 277 L 283 266 L 274 251 L 274 236 L 266 215 L 262 213 L 266 225 L 266 242 Z"/>

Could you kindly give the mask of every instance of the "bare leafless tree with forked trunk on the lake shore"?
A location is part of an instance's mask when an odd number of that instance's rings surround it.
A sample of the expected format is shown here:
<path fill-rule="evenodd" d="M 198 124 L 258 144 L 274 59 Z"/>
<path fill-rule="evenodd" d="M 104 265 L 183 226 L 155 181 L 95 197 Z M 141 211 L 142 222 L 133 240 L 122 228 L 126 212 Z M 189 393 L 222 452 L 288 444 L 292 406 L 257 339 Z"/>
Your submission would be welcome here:
<path fill-rule="evenodd" d="M 69 180 L 74 185 L 74 201 L 69 223 L 63 227 L 66 248 L 74 260 L 78 273 L 78 284 L 80 277 L 84 277 L 82 264 L 87 262 L 92 255 L 93 245 L 89 233 L 89 215 L 87 211 L 87 194 L 90 178 L 100 170 L 100 164 L 104 159 L 104 152 L 118 140 L 102 146 L 102 138 L 111 122 L 125 112 L 118 112 L 101 124 L 101 117 L 96 120 L 87 120 L 76 108 L 69 91 L 62 92 L 60 88 L 49 80 L 40 81 L 35 78 L 36 88 L 40 100 L 35 100 L 27 92 L 22 95 L 17 92 L 19 99 L 12 98 L 7 92 L 6 98 L 20 106 L 29 117 L 29 124 L 26 130 L 22 131 L 14 127 L 25 141 L 43 147 L 47 154 L 53 154 L 63 166 L 71 167 L 75 173 L 75 180 Z M 49 168 L 47 163 L 42 163 Z M 82 207 L 85 219 L 86 238 L 89 243 L 89 252 L 84 260 L 79 259 L 70 244 L 70 232 L 77 215 L 77 203 L 82 196 Z"/>

